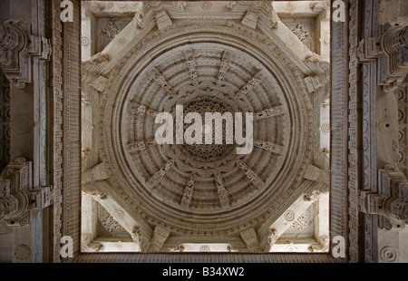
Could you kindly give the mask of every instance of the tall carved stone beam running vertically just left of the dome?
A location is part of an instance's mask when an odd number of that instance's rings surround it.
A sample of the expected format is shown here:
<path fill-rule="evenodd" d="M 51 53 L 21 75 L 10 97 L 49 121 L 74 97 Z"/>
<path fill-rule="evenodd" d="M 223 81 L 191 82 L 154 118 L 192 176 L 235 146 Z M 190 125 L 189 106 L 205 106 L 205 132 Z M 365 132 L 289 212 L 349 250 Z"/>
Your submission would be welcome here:
<path fill-rule="evenodd" d="M 61 237 L 73 237 L 73 255 L 80 253 L 81 235 L 81 3 L 73 1 L 73 22 L 61 22 L 61 1 L 53 0 L 52 87 L 53 136 L 53 253 L 52 262 L 73 258 L 60 255 Z"/>

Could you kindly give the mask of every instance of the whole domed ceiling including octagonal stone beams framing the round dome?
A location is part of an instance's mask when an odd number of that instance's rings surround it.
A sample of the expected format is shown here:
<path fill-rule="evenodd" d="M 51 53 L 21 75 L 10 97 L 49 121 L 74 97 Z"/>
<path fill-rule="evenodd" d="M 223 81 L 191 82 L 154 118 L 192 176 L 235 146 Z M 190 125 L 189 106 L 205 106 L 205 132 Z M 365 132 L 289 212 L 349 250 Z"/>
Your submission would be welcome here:
<path fill-rule="evenodd" d="M 170 17 L 170 11 L 180 7 L 143 5 L 143 16 L 84 63 L 83 82 L 92 89 L 85 99 L 98 104 L 91 113 L 93 162 L 102 162 L 106 174 L 90 174 L 87 183 L 103 180 L 96 189 L 120 202 L 140 222 L 136 230 L 148 229 L 148 239 L 155 239 L 157 227 L 189 242 L 226 241 L 250 228 L 262 237 L 257 229 L 270 226 L 311 186 L 305 172 L 319 124 L 305 78 L 319 74 L 319 62 L 302 61 L 273 34 L 277 15 L 267 3 L 227 5 L 222 11 L 229 19 Z M 246 24 L 251 13 L 257 29 Z M 244 19 L 234 19 L 238 15 Z M 287 36 L 287 42 L 298 40 Z M 169 112 L 176 123 L 180 105 L 181 118 L 197 112 L 203 121 L 206 112 L 252 113 L 250 153 L 238 154 L 240 145 L 225 141 L 237 130 L 226 122 L 220 131 L 203 126 L 203 140 L 218 144 L 158 143 L 156 117 Z M 251 137 L 247 126 L 244 118 L 244 135 Z M 175 124 L 174 140 L 188 128 Z"/>

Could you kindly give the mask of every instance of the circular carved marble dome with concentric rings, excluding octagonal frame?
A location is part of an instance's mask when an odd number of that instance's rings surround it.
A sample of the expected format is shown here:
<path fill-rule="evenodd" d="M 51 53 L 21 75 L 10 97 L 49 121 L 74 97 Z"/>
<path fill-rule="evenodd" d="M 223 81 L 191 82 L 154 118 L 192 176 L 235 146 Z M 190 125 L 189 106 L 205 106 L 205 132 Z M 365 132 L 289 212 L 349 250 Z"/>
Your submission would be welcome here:
<path fill-rule="evenodd" d="M 267 37 L 227 20 L 173 24 L 141 43 L 117 63 L 101 102 L 112 189 L 151 223 L 181 233 L 261 223 L 298 188 L 310 157 L 311 103 L 298 66 Z M 156 114 L 175 116 L 180 104 L 185 113 L 253 112 L 254 149 L 157 144 Z"/>

